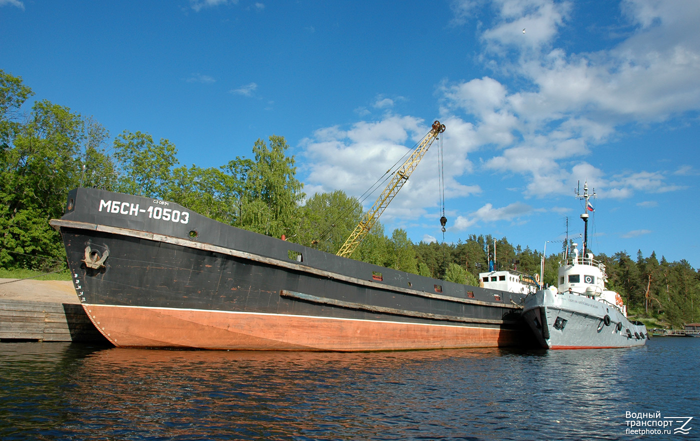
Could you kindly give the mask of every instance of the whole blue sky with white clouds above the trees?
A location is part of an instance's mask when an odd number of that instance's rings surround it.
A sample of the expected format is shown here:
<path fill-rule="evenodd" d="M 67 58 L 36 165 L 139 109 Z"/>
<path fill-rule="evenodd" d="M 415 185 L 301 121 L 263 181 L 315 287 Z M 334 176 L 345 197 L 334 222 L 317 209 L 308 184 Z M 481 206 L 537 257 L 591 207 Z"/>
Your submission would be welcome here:
<path fill-rule="evenodd" d="M 309 196 L 360 196 L 437 119 L 448 242 L 582 233 L 587 180 L 594 252 L 699 268 L 698 23 L 696 0 L 0 0 L 0 68 L 188 166 L 284 136 Z M 388 235 L 442 241 L 435 146 Z"/>

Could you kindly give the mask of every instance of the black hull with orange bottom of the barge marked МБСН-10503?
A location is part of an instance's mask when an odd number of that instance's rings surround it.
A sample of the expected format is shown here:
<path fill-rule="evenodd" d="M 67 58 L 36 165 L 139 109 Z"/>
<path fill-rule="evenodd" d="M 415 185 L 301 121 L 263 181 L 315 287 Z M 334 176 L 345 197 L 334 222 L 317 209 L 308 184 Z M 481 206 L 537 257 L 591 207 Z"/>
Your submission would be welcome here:
<path fill-rule="evenodd" d="M 164 207 L 171 213 L 167 220 Z M 527 333 L 520 294 L 353 261 L 221 224 L 174 203 L 76 189 L 66 215 L 52 224 L 62 233 L 80 302 L 118 346 L 430 349 L 517 345 Z M 179 324 L 162 326 L 167 319 L 159 323 L 158 317 L 164 315 Z M 309 338 L 284 329 L 292 322 L 323 332 Z M 245 326 L 251 328 L 241 338 Z M 351 331 L 386 335 L 353 338 Z"/>

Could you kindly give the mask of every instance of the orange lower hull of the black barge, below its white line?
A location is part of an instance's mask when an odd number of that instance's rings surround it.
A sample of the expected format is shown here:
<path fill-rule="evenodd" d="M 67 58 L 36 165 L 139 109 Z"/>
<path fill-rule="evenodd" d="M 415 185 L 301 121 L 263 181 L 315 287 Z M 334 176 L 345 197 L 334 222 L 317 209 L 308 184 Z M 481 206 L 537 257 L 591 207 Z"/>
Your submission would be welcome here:
<path fill-rule="evenodd" d="M 83 305 L 118 347 L 391 351 L 512 346 L 521 331 L 449 324 Z"/>

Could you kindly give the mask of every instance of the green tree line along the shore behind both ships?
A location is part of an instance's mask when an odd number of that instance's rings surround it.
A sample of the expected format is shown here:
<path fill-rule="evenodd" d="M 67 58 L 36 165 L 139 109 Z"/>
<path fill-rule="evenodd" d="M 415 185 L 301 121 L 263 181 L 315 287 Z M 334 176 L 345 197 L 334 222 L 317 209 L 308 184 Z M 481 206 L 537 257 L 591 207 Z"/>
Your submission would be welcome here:
<path fill-rule="evenodd" d="M 307 198 L 282 136 L 258 139 L 251 158 L 219 167 L 185 166 L 176 146 L 141 131 L 111 139 L 92 117 L 33 96 L 22 78 L 0 70 L 0 268 L 48 271 L 65 266 L 59 233 L 48 221 L 62 216 L 74 187 L 160 198 L 220 222 L 335 253 L 363 215 L 357 198 L 343 191 Z M 541 254 L 506 238 L 471 235 L 458 243 L 412 243 L 406 231 L 388 236 L 377 222 L 353 259 L 452 282 L 478 284 L 496 246 L 496 264 L 540 272 Z M 608 287 L 638 316 L 679 326 L 700 321 L 700 274 L 687 261 L 659 261 L 640 252 L 598 254 Z M 561 256 L 545 259 L 543 282 L 556 284 Z"/>

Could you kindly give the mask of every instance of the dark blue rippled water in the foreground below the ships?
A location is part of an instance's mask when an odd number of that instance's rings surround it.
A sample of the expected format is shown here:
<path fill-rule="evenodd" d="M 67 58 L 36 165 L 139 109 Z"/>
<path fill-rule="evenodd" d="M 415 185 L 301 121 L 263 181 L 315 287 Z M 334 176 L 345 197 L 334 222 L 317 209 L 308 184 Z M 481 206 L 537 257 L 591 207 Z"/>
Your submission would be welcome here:
<path fill-rule="evenodd" d="M 3 344 L 0 438 L 624 439 L 624 412 L 640 403 L 699 402 L 696 388 L 674 386 L 699 374 L 693 348 L 664 348 L 335 354 Z M 671 352 L 685 368 L 659 382 Z"/>

